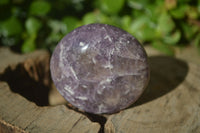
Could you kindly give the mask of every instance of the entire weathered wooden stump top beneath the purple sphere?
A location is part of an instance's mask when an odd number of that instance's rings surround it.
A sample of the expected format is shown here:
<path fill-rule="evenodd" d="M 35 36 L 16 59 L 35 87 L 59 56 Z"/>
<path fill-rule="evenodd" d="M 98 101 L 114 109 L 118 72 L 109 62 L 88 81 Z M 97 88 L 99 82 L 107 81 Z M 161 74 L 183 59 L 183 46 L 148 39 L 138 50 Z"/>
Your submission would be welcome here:
<path fill-rule="evenodd" d="M 121 112 L 97 116 L 66 106 L 51 86 L 47 52 L 0 48 L 0 132 L 199 133 L 200 56 L 145 49 L 151 79 L 143 95 Z"/>

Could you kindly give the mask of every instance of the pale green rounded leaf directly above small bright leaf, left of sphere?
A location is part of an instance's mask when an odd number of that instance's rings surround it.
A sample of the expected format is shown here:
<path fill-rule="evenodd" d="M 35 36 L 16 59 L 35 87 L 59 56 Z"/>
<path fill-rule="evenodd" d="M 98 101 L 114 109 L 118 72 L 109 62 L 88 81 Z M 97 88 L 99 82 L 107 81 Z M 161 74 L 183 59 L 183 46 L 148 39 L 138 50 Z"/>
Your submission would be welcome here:
<path fill-rule="evenodd" d="M 38 19 L 30 17 L 26 20 L 25 27 L 29 35 L 37 34 L 39 29 L 42 27 L 42 23 Z"/>

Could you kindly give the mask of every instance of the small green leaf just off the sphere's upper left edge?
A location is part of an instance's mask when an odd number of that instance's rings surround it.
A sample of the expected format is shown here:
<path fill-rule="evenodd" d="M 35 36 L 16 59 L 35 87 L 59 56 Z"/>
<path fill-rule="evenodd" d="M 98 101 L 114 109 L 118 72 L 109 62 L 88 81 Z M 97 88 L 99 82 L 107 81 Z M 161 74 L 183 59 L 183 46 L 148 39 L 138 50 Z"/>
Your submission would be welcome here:
<path fill-rule="evenodd" d="M 78 19 L 75 17 L 64 17 L 62 22 L 67 26 L 67 32 L 71 32 L 77 27 Z"/>

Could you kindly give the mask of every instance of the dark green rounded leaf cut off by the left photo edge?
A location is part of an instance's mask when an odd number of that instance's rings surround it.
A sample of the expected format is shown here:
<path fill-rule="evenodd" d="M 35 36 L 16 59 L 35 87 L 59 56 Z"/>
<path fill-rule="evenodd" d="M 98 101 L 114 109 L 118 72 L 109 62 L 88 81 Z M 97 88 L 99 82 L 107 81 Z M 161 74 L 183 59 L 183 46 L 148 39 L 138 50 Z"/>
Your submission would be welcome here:
<path fill-rule="evenodd" d="M 5 37 L 18 35 L 22 32 L 22 24 L 21 22 L 15 18 L 11 17 L 2 22 L 0 25 L 0 34 Z"/>

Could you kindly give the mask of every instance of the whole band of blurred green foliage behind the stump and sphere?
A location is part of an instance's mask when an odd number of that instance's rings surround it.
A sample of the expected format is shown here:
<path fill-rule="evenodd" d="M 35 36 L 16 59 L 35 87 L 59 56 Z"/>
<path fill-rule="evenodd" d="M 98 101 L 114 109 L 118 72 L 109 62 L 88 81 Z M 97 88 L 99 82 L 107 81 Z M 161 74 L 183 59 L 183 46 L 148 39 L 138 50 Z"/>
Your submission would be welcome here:
<path fill-rule="evenodd" d="M 18 52 L 52 51 L 89 23 L 120 27 L 169 55 L 174 46 L 200 49 L 200 0 L 0 0 L 0 45 Z"/>

